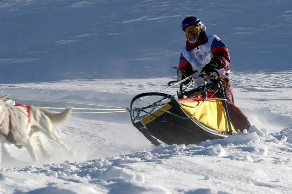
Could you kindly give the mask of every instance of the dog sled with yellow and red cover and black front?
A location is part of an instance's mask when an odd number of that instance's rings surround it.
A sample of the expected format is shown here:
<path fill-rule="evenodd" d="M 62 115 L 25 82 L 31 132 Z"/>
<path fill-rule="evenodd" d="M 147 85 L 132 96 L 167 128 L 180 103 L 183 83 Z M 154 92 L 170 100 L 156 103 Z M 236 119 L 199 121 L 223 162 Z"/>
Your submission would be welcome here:
<path fill-rule="evenodd" d="M 174 95 L 160 93 L 161 90 L 142 93 L 131 100 L 128 110 L 132 124 L 153 145 L 198 144 L 239 132 L 228 112 L 239 109 L 226 103 L 225 83 L 218 72 L 217 76 L 204 77 L 204 84 L 198 88 L 188 89 L 193 81 L 183 84 L 193 77 L 203 77 L 202 73 L 197 71 L 182 81 L 168 82 L 167 88 L 180 85 Z M 219 86 L 221 98 L 212 96 L 215 85 Z"/>

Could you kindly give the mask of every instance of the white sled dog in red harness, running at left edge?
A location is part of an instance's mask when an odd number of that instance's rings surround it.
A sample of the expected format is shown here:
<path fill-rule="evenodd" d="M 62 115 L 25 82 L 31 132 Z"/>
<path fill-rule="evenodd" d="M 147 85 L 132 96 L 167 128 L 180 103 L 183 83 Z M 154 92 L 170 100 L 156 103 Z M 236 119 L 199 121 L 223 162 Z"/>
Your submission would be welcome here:
<path fill-rule="evenodd" d="M 41 148 L 42 154 L 49 158 L 40 138 L 34 137 L 34 133 L 41 131 L 51 138 L 70 154 L 75 155 L 67 144 L 58 136 L 56 128 L 63 124 L 70 116 L 73 107 L 67 107 L 62 113 L 53 113 L 39 106 L 11 106 L 4 105 L 0 97 L 0 166 L 1 166 L 1 144 L 15 144 L 19 148 L 24 146 L 34 162 L 39 162 L 34 145 Z"/>

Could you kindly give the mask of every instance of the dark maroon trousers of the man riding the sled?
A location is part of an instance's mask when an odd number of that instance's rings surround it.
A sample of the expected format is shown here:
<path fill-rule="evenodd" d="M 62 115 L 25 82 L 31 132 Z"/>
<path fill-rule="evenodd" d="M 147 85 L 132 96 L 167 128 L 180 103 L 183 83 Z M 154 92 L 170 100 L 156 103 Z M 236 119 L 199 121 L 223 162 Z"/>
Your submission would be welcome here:
<path fill-rule="evenodd" d="M 240 131 L 243 131 L 243 129 L 248 130 L 251 126 L 250 122 L 248 121 L 248 118 L 234 104 L 232 83 L 227 78 L 224 79 L 224 81 L 226 82 L 224 93 L 227 100 L 226 101 L 227 109 L 230 116 L 230 120 L 235 129 L 239 129 Z M 214 89 L 218 89 L 218 88 L 219 86 L 215 87 Z M 222 98 L 219 91 L 217 91 L 214 96 Z"/>

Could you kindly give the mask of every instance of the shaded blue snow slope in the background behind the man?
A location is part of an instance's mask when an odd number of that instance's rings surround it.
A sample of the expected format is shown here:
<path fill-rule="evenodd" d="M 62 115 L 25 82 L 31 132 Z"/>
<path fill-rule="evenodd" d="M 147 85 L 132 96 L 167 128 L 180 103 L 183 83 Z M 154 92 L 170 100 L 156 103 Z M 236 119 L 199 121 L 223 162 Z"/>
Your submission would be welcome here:
<path fill-rule="evenodd" d="M 228 46 L 231 70 L 291 70 L 291 10 L 289 0 L 3 0 L 0 79 L 174 75 L 189 15 Z"/>

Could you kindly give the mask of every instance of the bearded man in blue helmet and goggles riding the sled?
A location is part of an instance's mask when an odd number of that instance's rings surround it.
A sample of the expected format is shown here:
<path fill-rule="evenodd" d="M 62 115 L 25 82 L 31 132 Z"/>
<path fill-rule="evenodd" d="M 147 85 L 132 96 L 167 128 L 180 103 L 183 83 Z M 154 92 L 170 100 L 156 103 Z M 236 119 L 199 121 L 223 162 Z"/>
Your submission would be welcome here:
<path fill-rule="evenodd" d="M 250 123 L 246 116 L 234 105 L 233 87 L 230 81 L 230 56 L 226 45 L 216 35 L 207 35 L 206 27 L 198 17 L 189 16 L 182 22 L 182 30 L 186 36 L 186 45 L 182 48 L 178 81 L 190 76 L 192 72 L 204 71 L 208 76 L 217 75 L 217 70 L 224 78 L 226 86 L 224 93 L 227 100 L 228 111 L 230 112 L 233 124 L 236 128 L 243 130 L 249 129 Z M 193 78 L 194 87 L 204 84 L 203 78 L 197 76 Z M 221 98 L 220 93 L 213 93 L 214 96 Z"/>

